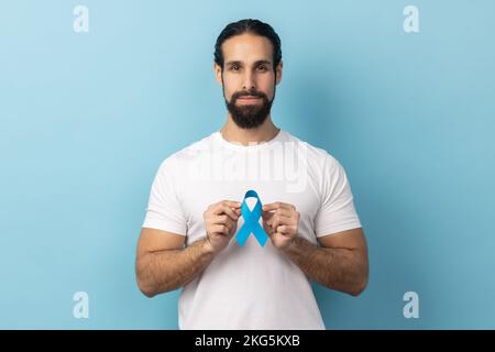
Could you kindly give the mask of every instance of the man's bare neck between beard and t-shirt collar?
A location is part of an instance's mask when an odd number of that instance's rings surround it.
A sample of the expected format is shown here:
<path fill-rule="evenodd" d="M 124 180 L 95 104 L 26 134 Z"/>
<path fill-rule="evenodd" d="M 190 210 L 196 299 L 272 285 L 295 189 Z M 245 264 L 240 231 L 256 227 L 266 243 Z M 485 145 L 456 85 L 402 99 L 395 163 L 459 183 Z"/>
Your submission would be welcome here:
<path fill-rule="evenodd" d="M 273 124 L 271 116 L 266 118 L 263 124 L 255 129 L 241 129 L 235 124 L 230 114 L 228 114 L 226 124 L 220 129 L 220 133 L 226 141 L 241 143 L 242 145 L 268 142 L 279 131 L 280 129 Z"/>

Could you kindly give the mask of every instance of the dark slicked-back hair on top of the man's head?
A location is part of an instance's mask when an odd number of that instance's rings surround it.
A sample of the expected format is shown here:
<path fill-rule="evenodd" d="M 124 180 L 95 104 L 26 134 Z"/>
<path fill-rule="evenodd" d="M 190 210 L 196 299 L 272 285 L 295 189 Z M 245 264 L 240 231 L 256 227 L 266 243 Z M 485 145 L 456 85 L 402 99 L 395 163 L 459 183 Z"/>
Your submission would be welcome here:
<path fill-rule="evenodd" d="M 273 68 L 282 61 L 280 38 L 275 33 L 274 29 L 268 24 L 260 20 L 241 20 L 238 22 L 229 23 L 217 38 L 215 44 L 215 62 L 223 69 L 223 53 L 222 44 L 228 38 L 241 35 L 244 33 L 252 33 L 260 36 L 265 36 L 272 42 L 273 46 Z"/>

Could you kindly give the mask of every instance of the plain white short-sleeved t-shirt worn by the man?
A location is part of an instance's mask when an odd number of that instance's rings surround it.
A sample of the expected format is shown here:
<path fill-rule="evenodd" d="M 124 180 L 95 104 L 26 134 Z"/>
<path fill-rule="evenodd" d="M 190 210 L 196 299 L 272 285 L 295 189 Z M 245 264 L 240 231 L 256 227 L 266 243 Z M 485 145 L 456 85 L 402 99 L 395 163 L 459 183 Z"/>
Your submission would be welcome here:
<path fill-rule="evenodd" d="M 345 172 L 324 150 L 286 131 L 241 145 L 219 131 L 174 153 L 152 185 L 143 228 L 205 238 L 204 212 L 223 199 L 283 201 L 300 212 L 298 235 L 317 238 L 361 228 Z M 249 198 L 246 202 L 253 206 Z M 243 226 L 238 220 L 238 230 Z M 260 224 L 262 220 L 260 219 Z M 324 329 L 309 278 L 268 240 L 232 238 L 179 298 L 179 329 Z"/>

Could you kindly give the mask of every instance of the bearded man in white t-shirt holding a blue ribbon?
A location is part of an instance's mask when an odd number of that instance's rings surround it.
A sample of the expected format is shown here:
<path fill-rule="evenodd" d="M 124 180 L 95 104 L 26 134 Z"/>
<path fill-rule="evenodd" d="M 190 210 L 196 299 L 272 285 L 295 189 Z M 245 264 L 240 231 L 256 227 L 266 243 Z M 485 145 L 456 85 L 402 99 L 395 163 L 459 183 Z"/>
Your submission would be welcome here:
<path fill-rule="evenodd" d="M 213 65 L 227 122 L 167 157 L 155 176 L 136 280 L 147 297 L 184 287 L 180 329 L 324 329 L 310 282 L 353 296 L 367 284 L 366 242 L 343 167 L 272 121 L 282 68 L 272 26 L 229 24 Z M 258 199 L 244 199 L 251 189 Z M 256 202 L 266 243 L 246 220 Z"/>

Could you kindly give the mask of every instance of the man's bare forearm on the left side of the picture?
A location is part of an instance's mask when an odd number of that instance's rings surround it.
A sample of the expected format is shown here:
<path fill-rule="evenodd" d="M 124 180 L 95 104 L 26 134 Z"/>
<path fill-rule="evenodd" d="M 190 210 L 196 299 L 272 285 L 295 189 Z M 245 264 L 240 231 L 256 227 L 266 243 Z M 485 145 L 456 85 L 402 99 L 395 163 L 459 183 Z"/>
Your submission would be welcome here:
<path fill-rule="evenodd" d="M 148 252 L 138 261 L 138 283 L 147 297 L 190 283 L 212 261 L 215 254 L 205 238 L 182 250 Z"/>

